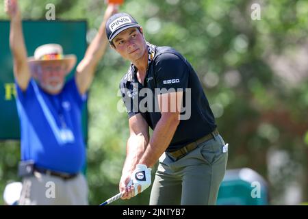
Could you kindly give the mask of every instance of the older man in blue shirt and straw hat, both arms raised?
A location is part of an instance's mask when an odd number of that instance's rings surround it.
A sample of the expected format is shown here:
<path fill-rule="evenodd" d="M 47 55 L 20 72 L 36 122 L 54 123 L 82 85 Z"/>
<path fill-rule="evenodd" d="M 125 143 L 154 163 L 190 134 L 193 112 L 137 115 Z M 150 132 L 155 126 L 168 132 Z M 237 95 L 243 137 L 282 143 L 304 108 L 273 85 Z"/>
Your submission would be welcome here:
<path fill-rule="evenodd" d="M 21 120 L 20 205 L 88 204 L 88 185 L 80 173 L 86 162 L 81 110 L 107 46 L 105 23 L 116 10 L 117 5 L 107 7 L 75 77 L 65 81 L 75 55 L 64 55 L 60 44 L 44 44 L 27 58 L 18 1 L 5 0 Z"/>

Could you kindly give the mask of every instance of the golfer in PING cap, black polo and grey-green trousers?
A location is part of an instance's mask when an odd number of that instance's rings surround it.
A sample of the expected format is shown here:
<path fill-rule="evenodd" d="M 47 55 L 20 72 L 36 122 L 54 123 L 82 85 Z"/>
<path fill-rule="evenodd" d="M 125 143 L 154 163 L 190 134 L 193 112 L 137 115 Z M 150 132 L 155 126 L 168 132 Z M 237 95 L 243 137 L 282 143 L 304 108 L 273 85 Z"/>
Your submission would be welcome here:
<path fill-rule="evenodd" d="M 111 47 L 131 62 L 120 81 L 130 131 L 122 198 L 148 188 L 159 161 L 150 205 L 215 205 L 228 150 L 194 68 L 175 49 L 146 42 L 129 14 L 111 16 L 106 33 Z"/>

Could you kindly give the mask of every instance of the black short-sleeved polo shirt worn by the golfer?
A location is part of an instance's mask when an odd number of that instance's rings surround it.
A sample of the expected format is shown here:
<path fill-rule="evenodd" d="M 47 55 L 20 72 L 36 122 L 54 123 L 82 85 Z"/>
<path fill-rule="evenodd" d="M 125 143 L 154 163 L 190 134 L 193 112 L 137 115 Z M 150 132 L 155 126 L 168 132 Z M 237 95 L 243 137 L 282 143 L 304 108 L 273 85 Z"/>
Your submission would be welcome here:
<path fill-rule="evenodd" d="M 161 118 L 157 94 L 183 91 L 185 111 L 181 111 L 181 121 L 166 151 L 180 149 L 214 131 L 214 115 L 201 82 L 190 63 L 175 49 L 155 47 L 143 86 L 136 73 L 137 69 L 131 65 L 120 81 L 120 91 L 129 118 L 141 114 L 151 129 L 155 129 Z"/>

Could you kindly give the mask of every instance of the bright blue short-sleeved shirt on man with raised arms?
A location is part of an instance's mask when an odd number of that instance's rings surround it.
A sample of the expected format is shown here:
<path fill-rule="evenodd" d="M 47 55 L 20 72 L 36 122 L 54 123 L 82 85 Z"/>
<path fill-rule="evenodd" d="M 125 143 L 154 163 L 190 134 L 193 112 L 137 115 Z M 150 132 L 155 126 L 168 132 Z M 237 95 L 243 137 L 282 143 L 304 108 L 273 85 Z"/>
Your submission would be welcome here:
<path fill-rule="evenodd" d="M 87 96 L 79 94 L 75 77 L 56 95 L 44 92 L 34 79 L 25 91 L 15 84 L 21 159 L 54 171 L 80 172 L 86 162 L 81 111 Z"/>

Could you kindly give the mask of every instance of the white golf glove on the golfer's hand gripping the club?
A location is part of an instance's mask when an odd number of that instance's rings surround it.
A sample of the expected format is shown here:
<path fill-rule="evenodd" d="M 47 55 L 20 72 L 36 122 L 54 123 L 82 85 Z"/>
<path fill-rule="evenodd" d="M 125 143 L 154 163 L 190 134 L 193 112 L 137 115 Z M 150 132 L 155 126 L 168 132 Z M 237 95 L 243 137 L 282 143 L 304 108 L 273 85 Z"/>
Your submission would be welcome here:
<path fill-rule="evenodd" d="M 144 164 L 137 164 L 136 169 L 131 174 L 131 186 L 134 188 L 133 196 L 143 192 L 151 185 L 151 168 L 147 168 Z M 138 193 L 137 193 L 138 191 Z"/>

